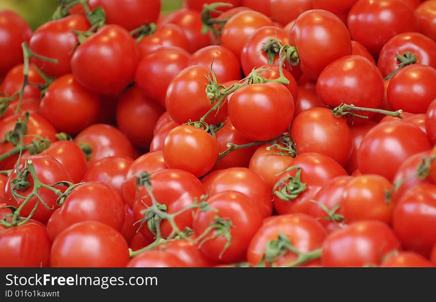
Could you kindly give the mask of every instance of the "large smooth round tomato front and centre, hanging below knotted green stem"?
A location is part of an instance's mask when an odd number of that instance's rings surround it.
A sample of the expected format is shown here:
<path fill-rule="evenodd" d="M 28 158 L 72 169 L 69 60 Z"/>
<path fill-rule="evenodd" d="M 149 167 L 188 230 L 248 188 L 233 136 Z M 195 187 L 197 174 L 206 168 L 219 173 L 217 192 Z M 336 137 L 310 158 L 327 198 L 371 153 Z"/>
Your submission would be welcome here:
<path fill-rule="evenodd" d="M 282 84 L 251 84 L 233 93 L 228 115 L 236 130 L 248 139 L 270 140 L 289 126 L 294 100 Z"/>

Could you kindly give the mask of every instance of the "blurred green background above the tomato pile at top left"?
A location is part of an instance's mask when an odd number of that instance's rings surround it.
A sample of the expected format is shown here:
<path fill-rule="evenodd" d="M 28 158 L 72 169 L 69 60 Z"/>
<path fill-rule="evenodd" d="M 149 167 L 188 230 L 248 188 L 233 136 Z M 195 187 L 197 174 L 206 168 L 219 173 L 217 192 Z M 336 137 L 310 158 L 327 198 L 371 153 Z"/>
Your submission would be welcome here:
<path fill-rule="evenodd" d="M 0 0 L 0 9 L 16 11 L 35 29 L 50 18 L 58 2 L 59 0 Z M 182 0 L 162 0 L 162 12 L 173 11 L 181 3 Z"/>

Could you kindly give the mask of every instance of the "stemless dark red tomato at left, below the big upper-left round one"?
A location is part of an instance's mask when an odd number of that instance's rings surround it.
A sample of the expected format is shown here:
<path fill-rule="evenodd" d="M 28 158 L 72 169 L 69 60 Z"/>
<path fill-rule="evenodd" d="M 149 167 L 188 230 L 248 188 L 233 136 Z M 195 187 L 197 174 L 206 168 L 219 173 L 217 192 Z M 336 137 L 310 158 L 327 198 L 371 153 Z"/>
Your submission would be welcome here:
<path fill-rule="evenodd" d="M 97 120 L 100 97 L 79 85 L 74 75 L 65 74 L 47 89 L 39 113 L 58 132 L 77 134 Z"/>

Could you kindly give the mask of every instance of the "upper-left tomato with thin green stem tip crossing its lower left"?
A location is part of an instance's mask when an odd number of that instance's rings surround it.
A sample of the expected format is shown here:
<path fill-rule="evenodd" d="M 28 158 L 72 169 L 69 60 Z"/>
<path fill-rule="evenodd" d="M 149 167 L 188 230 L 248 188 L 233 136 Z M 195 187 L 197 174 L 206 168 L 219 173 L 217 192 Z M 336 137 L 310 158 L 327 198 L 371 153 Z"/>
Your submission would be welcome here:
<path fill-rule="evenodd" d="M 38 27 L 29 42 L 34 53 L 56 59 L 57 64 L 32 57 L 31 62 L 48 76 L 59 77 L 71 73 L 71 57 L 79 43 L 74 31 L 87 31 L 90 25 L 84 15 L 74 14 L 49 21 Z"/>

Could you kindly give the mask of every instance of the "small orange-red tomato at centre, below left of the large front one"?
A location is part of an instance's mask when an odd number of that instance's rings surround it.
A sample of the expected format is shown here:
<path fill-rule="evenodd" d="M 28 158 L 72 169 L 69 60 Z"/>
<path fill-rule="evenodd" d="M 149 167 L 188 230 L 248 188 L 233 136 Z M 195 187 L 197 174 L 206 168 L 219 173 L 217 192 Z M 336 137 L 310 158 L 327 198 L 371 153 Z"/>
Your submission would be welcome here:
<path fill-rule="evenodd" d="M 180 125 L 166 134 L 162 151 L 168 168 L 185 170 L 201 177 L 215 166 L 219 146 L 217 139 L 203 129 Z"/>

